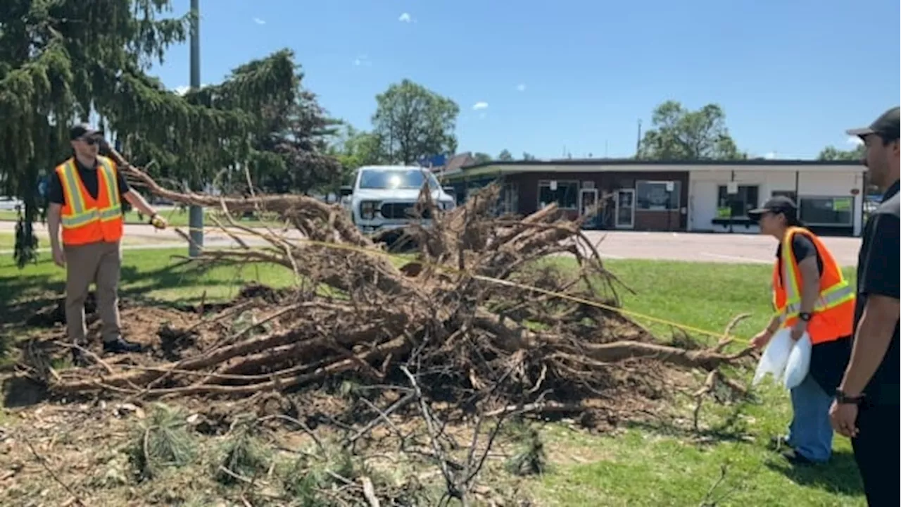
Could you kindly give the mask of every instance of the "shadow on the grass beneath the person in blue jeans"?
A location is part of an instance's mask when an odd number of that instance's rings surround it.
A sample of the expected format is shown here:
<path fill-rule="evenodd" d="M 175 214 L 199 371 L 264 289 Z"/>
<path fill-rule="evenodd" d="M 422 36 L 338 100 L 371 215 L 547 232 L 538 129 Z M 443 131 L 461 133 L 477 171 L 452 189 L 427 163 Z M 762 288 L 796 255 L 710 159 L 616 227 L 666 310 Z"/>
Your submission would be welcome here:
<path fill-rule="evenodd" d="M 834 452 L 829 463 L 821 466 L 791 466 L 784 459 L 775 459 L 768 462 L 767 467 L 785 475 L 796 484 L 817 488 L 827 493 L 863 494 L 860 472 L 850 451 Z"/>

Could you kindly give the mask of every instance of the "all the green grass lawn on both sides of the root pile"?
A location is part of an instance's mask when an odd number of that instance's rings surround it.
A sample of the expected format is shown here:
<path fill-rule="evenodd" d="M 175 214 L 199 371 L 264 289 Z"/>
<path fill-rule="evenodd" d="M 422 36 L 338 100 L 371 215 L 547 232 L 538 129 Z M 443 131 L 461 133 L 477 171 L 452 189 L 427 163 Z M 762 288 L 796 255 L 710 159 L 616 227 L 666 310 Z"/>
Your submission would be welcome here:
<path fill-rule="evenodd" d="M 172 257 L 183 253 L 125 251 L 123 295 L 197 301 L 206 292 L 211 300 L 233 296 L 248 281 L 279 286 L 291 280 L 278 266 L 199 269 Z M 638 291 L 624 298 L 624 307 L 634 312 L 714 332 L 722 332 L 736 314 L 751 312 L 735 330 L 742 339 L 769 318 L 768 266 L 623 260 L 607 266 Z M 853 278 L 853 270 L 847 274 Z M 46 254 L 23 271 L 7 255 L 0 258 L 0 302 L 48 291 L 61 294 L 63 277 Z M 651 327 L 664 337 L 669 332 L 660 324 Z M 750 380 L 750 373 L 743 375 Z M 677 399 L 677 416 L 690 419 L 688 400 Z M 787 392 L 780 387 L 766 385 L 738 406 L 708 401 L 702 413 L 702 442 L 678 429 L 684 423 L 632 425 L 607 436 L 549 424 L 542 429 L 546 447 L 564 458 L 524 486 L 540 505 L 696 506 L 705 498 L 717 506 L 865 504 L 847 440 L 836 438 L 833 463 L 818 469 L 792 469 L 767 449 L 769 438 L 783 431 L 791 415 Z M 723 469 L 724 481 L 707 497 Z"/>

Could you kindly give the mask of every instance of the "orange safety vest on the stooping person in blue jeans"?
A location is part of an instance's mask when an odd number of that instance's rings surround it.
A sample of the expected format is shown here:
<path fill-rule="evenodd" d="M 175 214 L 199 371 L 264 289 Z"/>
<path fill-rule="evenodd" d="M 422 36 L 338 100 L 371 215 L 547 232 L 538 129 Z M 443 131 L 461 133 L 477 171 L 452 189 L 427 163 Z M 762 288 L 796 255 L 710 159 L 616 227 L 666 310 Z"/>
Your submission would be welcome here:
<path fill-rule="evenodd" d="M 807 236 L 815 245 L 823 261 L 820 275 L 820 294 L 812 318 L 807 323 L 807 334 L 812 344 L 822 344 L 851 336 L 854 332 L 854 289 L 844 279 L 842 268 L 835 262 L 820 238 L 804 227 L 789 227 L 782 239 L 782 276 L 779 276 L 779 260 L 773 267 L 773 306 L 781 320 L 781 327 L 795 326 L 801 312 L 801 272 L 792 254 L 792 238 L 796 234 Z M 783 283 L 784 281 L 784 283 Z"/>

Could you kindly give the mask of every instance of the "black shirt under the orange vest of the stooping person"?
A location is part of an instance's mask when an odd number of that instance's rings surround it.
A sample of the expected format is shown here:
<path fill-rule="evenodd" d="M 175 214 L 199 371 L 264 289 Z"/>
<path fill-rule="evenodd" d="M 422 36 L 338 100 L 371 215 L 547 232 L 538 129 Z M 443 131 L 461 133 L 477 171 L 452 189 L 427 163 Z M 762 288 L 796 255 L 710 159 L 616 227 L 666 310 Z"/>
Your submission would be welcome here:
<path fill-rule="evenodd" d="M 816 251 L 814 242 L 802 233 L 796 233 L 791 241 L 792 256 L 796 263 L 801 263 L 807 257 L 816 256 L 816 267 L 820 276 L 823 276 L 823 258 Z M 776 249 L 776 257 L 779 262 L 779 280 L 782 280 L 782 245 Z M 785 281 L 782 281 L 783 283 Z M 798 290 L 801 290 L 798 287 Z M 851 359 L 851 336 L 841 338 L 813 346 L 810 353 L 810 375 L 816 383 L 827 393 L 832 394 L 842 383 L 842 376 L 848 361 Z"/>

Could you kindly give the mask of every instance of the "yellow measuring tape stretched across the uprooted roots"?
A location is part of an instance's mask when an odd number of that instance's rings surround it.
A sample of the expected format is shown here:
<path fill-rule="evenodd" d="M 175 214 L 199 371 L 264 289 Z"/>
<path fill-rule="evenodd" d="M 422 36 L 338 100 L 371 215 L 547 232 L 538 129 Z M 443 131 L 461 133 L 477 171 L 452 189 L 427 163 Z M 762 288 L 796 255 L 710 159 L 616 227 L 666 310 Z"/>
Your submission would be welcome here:
<path fill-rule="evenodd" d="M 171 227 L 171 228 L 176 231 L 180 231 L 184 234 L 183 229 L 180 227 Z M 187 230 L 188 231 L 214 230 L 214 231 L 218 231 L 218 232 L 222 233 L 223 227 L 219 227 L 219 226 L 187 227 Z M 234 230 L 228 228 L 227 226 L 225 227 L 225 230 L 227 231 L 226 234 L 228 234 L 228 235 L 244 235 L 244 236 L 248 236 L 248 237 L 259 237 L 258 235 L 253 235 L 253 234 L 243 232 L 243 231 L 234 231 Z M 540 287 L 534 287 L 532 285 L 518 283 L 516 281 L 501 280 L 499 278 L 492 278 L 492 277 L 478 275 L 478 274 L 471 274 L 471 273 L 465 272 L 463 270 L 453 268 L 451 266 L 445 266 L 445 265 L 436 264 L 436 263 L 423 263 L 422 261 L 419 261 L 419 260 L 411 261 L 410 259 L 406 258 L 404 255 L 401 255 L 398 253 L 385 252 L 384 250 L 378 250 L 378 249 L 374 249 L 374 248 L 364 248 L 364 247 L 356 246 L 353 244 L 327 243 L 324 241 L 316 241 L 316 240 L 307 239 L 307 238 L 291 238 L 290 241 L 311 244 L 314 246 L 322 246 L 324 248 L 332 248 L 333 250 L 347 250 L 347 251 L 356 252 L 356 253 L 382 255 L 387 258 L 398 259 L 398 260 L 402 260 L 405 262 L 415 262 L 415 263 L 422 264 L 423 266 L 432 267 L 432 268 L 435 268 L 435 269 L 438 269 L 438 270 L 441 270 L 444 272 L 452 272 L 452 273 L 456 273 L 456 274 L 462 274 L 464 276 L 469 276 L 469 277 L 472 277 L 472 278 L 474 278 L 476 280 L 480 280 L 480 281 L 488 281 L 491 283 L 496 283 L 498 285 L 505 285 L 508 287 L 514 287 L 516 289 L 521 289 L 521 290 L 530 290 L 532 292 L 538 292 L 540 294 L 545 294 L 547 296 L 551 296 L 554 298 L 560 298 L 561 300 L 570 300 L 573 302 L 596 307 L 599 309 L 607 309 L 607 310 L 614 311 L 616 313 L 620 313 L 623 315 L 628 315 L 628 316 L 631 316 L 634 318 L 641 318 L 642 320 L 647 320 L 649 322 L 655 322 L 657 324 L 662 324 L 662 325 L 670 326 L 670 327 L 678 327 L 680 329 L 684 329 L 686 331 L 691 331 L 691 332 L 699 334 L 699 335 L 711 336 L 714 338 L 721 338 L 724 336 L 724 333 L 716 333 L 714 331 L 709 331 L 707 329 L 702 329 L 700 327 L 693 327 L 693 326 L 687 326 L 685 324 L 679 324 L 678 322 L 674 322 L 672 320 L 668 320 L 665 318 L 652 317 L 650 315 L 645 315 L 645 314 L 639 313 L 637 311 L 614 307 L 614 306 L 602 303 L 600 301 L 587 300 L 585 298 L 579 298 L 578 296 L 572 296 L 570 294 L 565 294 L 563 292 L 555 292 L 553 290 L 546 290 L 546 289 L 542 289 Z"/>

